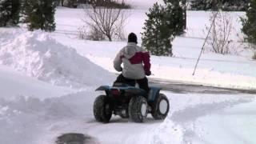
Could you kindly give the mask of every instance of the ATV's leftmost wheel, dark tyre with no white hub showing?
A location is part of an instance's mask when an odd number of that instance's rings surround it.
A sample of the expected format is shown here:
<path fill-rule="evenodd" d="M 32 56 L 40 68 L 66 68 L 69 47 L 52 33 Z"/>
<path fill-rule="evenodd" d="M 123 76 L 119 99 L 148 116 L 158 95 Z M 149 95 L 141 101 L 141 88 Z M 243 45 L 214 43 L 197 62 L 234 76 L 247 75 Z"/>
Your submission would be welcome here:
<path fill-rule="evenodd" d="M 110 122 L 113 108 L 111 106 L 109 98 L 106 95 L 98 96 L 94 101 L 94 118 L 98 122 Z"/>

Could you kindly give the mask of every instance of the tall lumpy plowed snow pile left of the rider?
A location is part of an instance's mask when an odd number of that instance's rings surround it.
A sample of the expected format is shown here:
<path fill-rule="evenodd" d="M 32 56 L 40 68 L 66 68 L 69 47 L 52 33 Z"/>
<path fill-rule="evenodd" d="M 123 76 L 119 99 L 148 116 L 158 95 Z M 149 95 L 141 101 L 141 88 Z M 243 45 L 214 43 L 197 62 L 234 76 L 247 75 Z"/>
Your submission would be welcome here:
<path fill-rule="evenodd" d="M 30 77 L 75 88 L 102 85 L 103 78 L 104 82 L 113 81 L 109 72 L 42 31 L 10 30 L 1 35 L 0 64 Z"/>

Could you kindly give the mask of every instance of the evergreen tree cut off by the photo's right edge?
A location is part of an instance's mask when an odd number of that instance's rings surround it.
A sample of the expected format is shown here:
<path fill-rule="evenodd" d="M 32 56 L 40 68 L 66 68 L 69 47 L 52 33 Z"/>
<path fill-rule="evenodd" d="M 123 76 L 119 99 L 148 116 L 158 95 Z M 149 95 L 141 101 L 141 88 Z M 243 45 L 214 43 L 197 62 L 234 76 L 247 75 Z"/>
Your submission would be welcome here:
<path fill-rule="evenodd" d="M 256 45 L 256 0 L 250 0 L 250 7 L 246 11 L 246 18 L 242 18 L 242 32 L 246 40 Z"/>

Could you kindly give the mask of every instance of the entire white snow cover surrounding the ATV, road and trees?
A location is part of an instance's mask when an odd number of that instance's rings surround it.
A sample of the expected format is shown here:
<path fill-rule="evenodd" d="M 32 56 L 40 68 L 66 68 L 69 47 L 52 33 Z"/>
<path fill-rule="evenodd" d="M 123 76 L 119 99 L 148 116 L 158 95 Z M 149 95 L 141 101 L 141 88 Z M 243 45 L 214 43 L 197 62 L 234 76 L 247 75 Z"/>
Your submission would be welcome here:
<path fill-rule="evenodd" d="M 126 34 L 141 38 L 143 6 L 153 1 L 130 2 L 137 7 L 130 10 Z M 234 19 L 244 15 L 232 14 Z M 86 134 L 102 144 L 256 143 L 255 94 L 162 91 L 170 99 L 165 120 L 149 115 L 146 122 L 134 123 L 113 116 L 108 124 L 96 122 L 93 102 L 102 93 L 94 90 L 114 82 L 112 62 L 126 42 L 78 39 L 82 16 L 82 10 L 58 8 L 54 33 L 0 28 L 0 143 L 54 144 L 66 133 Z M 150 78 L 255 90 L 256 62 L 242 46 L 238 55 L 202 54 L 192 76 L 208 18 L 209 13 L 188 11 L 186 34 L 173 42 L 175 57 L 151 56 Z M 240 23 L 234 24 L 241 33 Z"/>

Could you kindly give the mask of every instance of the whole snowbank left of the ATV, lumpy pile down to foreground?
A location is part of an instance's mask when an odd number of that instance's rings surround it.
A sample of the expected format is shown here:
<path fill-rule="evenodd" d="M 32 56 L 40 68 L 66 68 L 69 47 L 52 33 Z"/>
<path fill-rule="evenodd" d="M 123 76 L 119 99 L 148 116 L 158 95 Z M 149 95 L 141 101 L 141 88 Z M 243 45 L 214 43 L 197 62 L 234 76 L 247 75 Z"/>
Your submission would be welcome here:
<path fill-rule="evenodd" d="M 96 86 L 114 79 L 41 31 L 0 29 L 0 44 L 0 143 L 54 143 L 51 124 L 93 118 Z"/>

